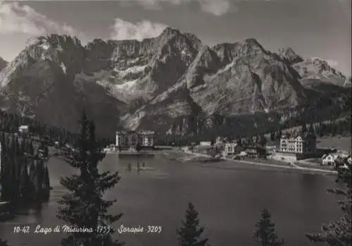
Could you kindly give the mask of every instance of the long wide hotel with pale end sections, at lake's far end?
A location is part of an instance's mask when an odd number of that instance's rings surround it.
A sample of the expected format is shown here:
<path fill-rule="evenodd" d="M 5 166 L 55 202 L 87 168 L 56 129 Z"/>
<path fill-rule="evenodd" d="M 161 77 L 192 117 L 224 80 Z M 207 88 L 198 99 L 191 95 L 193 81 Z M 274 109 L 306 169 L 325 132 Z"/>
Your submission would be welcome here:
<path fill-rule="evenodd" d="M 154 132 L 147 130 L 116 132 L 116 147 L 136 147 L 137 144 L 141 147 L 153 147 Z"/>

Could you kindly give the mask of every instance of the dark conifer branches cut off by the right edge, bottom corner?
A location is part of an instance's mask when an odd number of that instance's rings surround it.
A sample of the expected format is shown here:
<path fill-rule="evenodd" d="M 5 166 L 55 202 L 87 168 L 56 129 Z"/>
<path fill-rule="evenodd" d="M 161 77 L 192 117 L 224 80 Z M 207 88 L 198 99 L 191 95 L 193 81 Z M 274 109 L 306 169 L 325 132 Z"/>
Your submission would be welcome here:
<path fill-rule="evenodd" d="M 352 165 L 348 164 L 347 159 L 337 159 L 337 166 L 348 166 L 348 168 L 337 168 L 337 182 L 342 182 L 346 186 L 345 190 L 336 188 L 328 192 L 342 195 L 339 201 L 342 216 L 337 221 L 331 221 L 322 225 L 321 233 L 306 234 L 313 242 L 326 242 L 328 246 L 351 246 L 352 245 Z"/>

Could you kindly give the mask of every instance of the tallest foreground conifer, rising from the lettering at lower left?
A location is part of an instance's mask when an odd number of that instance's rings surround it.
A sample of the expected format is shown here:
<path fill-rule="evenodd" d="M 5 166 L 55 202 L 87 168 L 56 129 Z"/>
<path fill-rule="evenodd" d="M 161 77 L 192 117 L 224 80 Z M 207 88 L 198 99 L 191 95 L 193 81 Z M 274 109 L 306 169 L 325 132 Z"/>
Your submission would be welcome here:
<path fill-rule="evenodd" d="M 120 177 L 118 172 L 99 173 L 98 164 L 105 154 L 102 147 L 96 142 L 94 123 L 89 122 L 85 113 L 80 119 L 80 137 L 74 149 L 68 149 L 66 161 L 73 168 L 78 169 L 79 174 L 73 174 L 61 179 L 61 185 L 69 192 L 63 195 L 59 201 L 61 207 L 58 218 L 70 226 L 80 228 L 93 228 L 92 233 L 70 233 L 61 241 L 61 245 L 73 246 L 117 246 L 122 245 L 118 240 L 112 239 L 111 229 L 109 233 L 101 234 L 96 228 L 110 226 L 118 221 L 122 214 L 109 215 L 107 210 L 115 200 L 104 200 L 103 193 L 114 187 Z"/>

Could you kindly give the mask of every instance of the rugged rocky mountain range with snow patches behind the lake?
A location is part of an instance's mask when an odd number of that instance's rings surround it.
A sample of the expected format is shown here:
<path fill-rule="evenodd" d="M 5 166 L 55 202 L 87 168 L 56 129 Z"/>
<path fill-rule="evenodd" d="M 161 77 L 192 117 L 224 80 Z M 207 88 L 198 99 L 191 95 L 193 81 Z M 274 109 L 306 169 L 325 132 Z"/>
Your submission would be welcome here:
<path fill-rule="evenodd" d="M 142 41 L 85 46 L 67 35 L 37 37 L 13 61 L 0 59 L 0 70 L 3 110 L 76 131 L 85 109 L 104 136 L 122 128 L 243 133 L 312 110 L 339 113 L 351 93 L 322 59 L 268 51 L 253 38 L 209 47 L 171 27 Z"/>

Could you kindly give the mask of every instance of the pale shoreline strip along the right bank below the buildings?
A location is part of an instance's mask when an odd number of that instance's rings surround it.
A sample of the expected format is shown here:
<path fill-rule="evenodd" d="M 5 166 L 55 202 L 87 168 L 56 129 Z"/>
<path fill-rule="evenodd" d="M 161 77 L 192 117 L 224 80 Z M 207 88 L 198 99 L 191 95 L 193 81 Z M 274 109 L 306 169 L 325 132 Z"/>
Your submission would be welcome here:
<path fill-rule="evenodd" d="M 196 159 L 197 157 L 205 157 L 205 158 L 212 158 L 211 156 L 207 154 L 199 154 L 199 153 L 194 153 L 194 152 L 181 152 L 184 154 L 187 154 L 187 156 L 182 156 L 177 159 L 177 161 L 180 162 L 187 162 L 191 161 L 193 159 Z M 192 157 L 193 156 L 193 157 Z M 220 157 L 220 159 L 224 161 L 230 161 L 234 164 L 249 164 L 251 166 L 262 166 L 262 167 L 269 167 L 269 168 L 282 168 L 282 169 L 289 169 L 289 170 L 298 170 L 298 171 L 308 171 L 310 173 L 318 173 L 318 174 L 328 174 L 328 175 L 336 175 L 337 171 L 332 171 L 332 170 L 326 170 L 326 169 L 320 169 L 320 168 L 307 168 L 307 167 L 302 167 L 298 166 L 297 164 L 291 163 L 291 165 L 279 165 L 279 164 L 264 164 L 260 162 L 253 162 L 253 161 L 246 161 L 246 160 L 234 160 L 226 157 Z M 215 161 L 214 161 L 215 163 Z"/>

